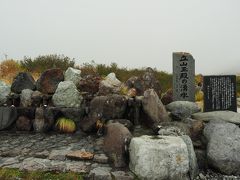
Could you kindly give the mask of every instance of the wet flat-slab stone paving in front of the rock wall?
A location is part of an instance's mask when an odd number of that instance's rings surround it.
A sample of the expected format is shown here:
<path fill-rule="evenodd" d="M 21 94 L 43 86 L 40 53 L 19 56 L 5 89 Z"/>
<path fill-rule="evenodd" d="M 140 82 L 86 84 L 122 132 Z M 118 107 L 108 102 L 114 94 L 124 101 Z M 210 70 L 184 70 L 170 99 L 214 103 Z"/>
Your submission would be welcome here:
<path fill-rule="evenodd" d="M 92 178 L 90 176 L 93 174 L 96 177 L 99 173 L 96 169 L 99 168 L 104 169 L 106 174 L 119 171 L 111 167 L 112 165 L 103 152 L 103 137 L 85 135 L 80 132 L 75 134 L 0 132 L 0 144 L 0 168 L 18 168 L 28 171 L 72 171 L 83 173 L 86 178 Z M 90 160 L 67 158 L 66 154 L 74 151 L 92 153 L 94 158 Z M 128 169 L 123 172 L 126 174 L 126 179 L 133 179 Z"/>

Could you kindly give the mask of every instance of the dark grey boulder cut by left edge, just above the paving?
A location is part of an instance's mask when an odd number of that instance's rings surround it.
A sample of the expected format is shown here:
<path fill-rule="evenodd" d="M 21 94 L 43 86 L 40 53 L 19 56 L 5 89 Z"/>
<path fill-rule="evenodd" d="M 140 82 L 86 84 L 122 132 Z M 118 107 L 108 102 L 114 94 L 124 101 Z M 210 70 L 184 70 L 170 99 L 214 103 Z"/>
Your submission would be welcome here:
<path fill-rule="evenodd" d="M 17 119 L 15 107 L 0 107 L 0 130 L 10 127 Z"/>

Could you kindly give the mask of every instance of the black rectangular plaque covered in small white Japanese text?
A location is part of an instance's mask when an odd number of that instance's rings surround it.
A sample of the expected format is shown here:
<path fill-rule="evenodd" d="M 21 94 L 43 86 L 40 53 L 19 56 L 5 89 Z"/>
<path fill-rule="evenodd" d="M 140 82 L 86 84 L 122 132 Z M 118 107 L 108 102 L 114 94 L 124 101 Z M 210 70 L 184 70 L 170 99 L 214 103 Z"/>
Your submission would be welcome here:
<path fill-rule="evenodd" d="M 236 76 L 204 76 L 204 111 L 237 112 Z"/>

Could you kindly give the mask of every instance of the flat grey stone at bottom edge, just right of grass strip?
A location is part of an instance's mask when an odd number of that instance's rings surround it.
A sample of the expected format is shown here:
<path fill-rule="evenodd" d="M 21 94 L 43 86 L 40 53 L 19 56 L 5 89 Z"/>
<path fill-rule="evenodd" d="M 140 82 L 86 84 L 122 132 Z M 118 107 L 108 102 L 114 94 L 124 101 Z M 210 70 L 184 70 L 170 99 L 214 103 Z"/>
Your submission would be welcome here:
<path fill-rule="evenodd" d="M 112 180 L 111 168 L 97 167 L 90 171 L 89 177 L 94 180 Z"/>

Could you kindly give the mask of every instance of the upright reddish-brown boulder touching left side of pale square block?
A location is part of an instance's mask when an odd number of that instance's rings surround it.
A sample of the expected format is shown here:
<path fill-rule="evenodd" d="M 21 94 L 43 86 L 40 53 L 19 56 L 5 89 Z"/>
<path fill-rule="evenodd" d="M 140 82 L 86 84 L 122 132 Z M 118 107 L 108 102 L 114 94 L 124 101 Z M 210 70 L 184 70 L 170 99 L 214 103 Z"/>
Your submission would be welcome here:
<path fill-rule="evenodd" d="M 127 144 L 132 138 L 129 130 L 120 123 L 110 123 L 106 126 L 104 150 L 117 168 L 127 166 Z"/>

